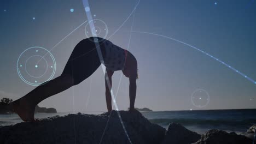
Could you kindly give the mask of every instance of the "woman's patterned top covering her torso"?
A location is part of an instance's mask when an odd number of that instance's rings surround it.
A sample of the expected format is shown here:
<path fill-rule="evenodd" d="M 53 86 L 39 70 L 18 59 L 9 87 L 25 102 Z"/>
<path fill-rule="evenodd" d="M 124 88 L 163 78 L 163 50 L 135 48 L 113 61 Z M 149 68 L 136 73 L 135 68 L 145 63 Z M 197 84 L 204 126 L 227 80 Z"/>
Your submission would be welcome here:
<path fill-rule="evenodd" d="M 126 51 L 109 40 L 103 42 L 104 65 L 112 71 L 123 70 Z"/>

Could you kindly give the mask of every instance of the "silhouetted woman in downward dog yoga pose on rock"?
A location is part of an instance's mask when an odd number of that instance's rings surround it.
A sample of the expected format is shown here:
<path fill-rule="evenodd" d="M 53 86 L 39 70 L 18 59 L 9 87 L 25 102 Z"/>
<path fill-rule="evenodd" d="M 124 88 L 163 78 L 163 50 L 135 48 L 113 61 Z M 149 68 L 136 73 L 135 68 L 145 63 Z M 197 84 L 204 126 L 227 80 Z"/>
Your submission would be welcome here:
<path fill-rule="evenodd" d="M 95 42 L 95 39 L 97 39 L 97 42 Z M 101 61 L 97 53 L 96 44 L 100 45 L 104 65 L 106 66 L 105 77 L 108 76 L 110 86 L 112 87 L 112 75 L 114 71 L 122 70 L 123 74 L 129 77 L 130 110 L 134 110 L 137 87 L 136 79 L 138 79 L 137 60 L 129 51 L 114 45 L 106 39 L 98 37 L 91 37 L 80 41 L 75 46 L 59 77 L 43 83 L 24 97 L 15 100 L 10 104 L 10 109 L 18 113 L 23 121 L 35 121 L 34 109 L 40 101 L 65 91 L 74 85 L 78 85 L 100 67 Z M 110 112 L 112 111 L 112 98 L 106 79 L 105 85 L 107 109 Z"/>

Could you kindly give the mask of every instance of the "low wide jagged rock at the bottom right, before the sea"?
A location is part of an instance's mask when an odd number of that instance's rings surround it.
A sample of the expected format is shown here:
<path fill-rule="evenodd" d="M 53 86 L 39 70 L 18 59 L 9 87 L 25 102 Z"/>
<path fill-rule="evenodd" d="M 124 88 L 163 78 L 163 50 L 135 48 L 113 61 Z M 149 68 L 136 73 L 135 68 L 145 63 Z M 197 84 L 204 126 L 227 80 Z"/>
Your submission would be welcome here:
<path fill-rule="evenodd" d="M 212 129 L 207 131 L 201 136 L 201 139 L 193 144 L 243 144 L 253 143 L 252 139 L 249 139 L 243 135 L 237 135 L 236 133 L 227 133 L 223 130 Z"/>

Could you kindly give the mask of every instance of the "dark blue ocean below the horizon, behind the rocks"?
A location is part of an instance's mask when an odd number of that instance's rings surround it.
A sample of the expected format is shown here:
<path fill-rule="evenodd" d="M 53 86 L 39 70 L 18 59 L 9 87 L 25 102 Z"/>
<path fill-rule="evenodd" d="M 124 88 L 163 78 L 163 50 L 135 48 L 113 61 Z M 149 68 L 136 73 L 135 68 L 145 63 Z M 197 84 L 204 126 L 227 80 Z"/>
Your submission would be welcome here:
<path fill-rule="evenodd" d="M 76 112 L 77 113 L 77 112 Z M 100 114 L 103 112 L 82 112 Z M 141 112 L 150 122 L 168 128 L 171 122 L 181 123 L 185 128 L 203 134 L 210 129 L 220 129 L 237 134 L 246 132 L 256 124 L 256 109 L 242 110 L 192 110 L 192 111 L 155 111 Z M 36 113 L 36 118 L 63 116 L 68 113 Z M 18 115 L 0 115 L 0 125 L 11 125 L 22 122 Z"/>

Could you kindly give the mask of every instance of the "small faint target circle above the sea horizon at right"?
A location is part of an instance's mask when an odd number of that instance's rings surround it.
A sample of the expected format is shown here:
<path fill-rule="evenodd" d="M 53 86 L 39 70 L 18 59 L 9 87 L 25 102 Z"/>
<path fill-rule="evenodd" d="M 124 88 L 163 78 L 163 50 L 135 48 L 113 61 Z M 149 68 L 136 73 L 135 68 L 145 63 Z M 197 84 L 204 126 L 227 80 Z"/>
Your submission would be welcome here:
<path fill-rule="evenodd" d="M 198 108 L 205 107 L 210 102 L 210 95 L 204 89 L 196 89 L 191 95 L 191 102 Z"/>

